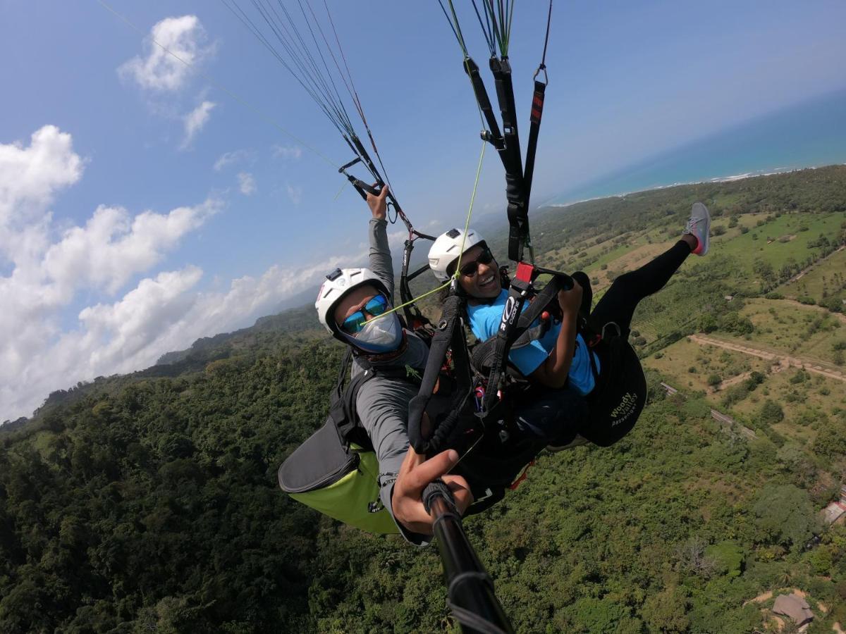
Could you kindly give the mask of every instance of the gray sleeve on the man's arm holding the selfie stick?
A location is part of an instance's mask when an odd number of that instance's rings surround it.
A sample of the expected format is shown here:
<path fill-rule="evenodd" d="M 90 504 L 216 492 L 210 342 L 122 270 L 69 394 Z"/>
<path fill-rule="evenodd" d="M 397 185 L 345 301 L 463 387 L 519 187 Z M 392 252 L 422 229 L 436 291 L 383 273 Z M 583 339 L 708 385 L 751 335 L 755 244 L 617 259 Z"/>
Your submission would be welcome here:
<path fill-rule="evenodd" d="M 379 461 L 380 499 L 393 517 L 391 496 L 399 467 L 409 451 L 408 419 L 409 400 L 413 390 L 408 385 L 375 377 L 361 386 L 355 402 L 361 424 L 371 439 Z M 400 533 L 411 544 L 426 546 L 429 535 L 411 533 L 394 518 Z"/>

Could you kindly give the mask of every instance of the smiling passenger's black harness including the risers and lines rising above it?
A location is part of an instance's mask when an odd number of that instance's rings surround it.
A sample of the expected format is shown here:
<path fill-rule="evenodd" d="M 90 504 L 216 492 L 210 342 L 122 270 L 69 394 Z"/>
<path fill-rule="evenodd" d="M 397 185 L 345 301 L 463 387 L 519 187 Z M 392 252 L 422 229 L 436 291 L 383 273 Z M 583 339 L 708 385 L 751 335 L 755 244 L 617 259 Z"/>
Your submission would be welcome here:
<path fill-rule="evenodd" d="M 481 3 L 485 11 L 484 19 L 478 9 L 476 11 L 491 50 L 489 66 L 502 119 L 500 127 L 481 79 L 479 66 L 464 46 L 464 36 L 453 3 L 451 0 L 446 2 L 451 14 L 443 3 L 441 6 L 464 51 L 464 71 L 470 78 L 476 103 L 486 123 L 486 129 L 481 133 L 482 139 L 497 150 L 505 170 L 508 258 L 517 262 L 517 268 L 508 286 L 508 298 L 497 334 L 477 344 L 472 353 L 464 340 L 462 315 L 465 314 L 466 298 L 461 296 L 457 281 L 453 281 L 451 295 L 443 304 L 442 320 L 432 338 L 420 392 L 409 404 L 409 440 L 415 451 L 428 455 L 447 448 L 457 449 L 464 457 L 455 472 L 468 478 L 471 489 L 474 489 L 474 485 L 481 489 L 487 484 L 483 490 L 483 500 L 496 501 L 504 495 L 504 489 L 509 484 L 518 484 L 515 478 L 525 475 L 525 466 L 545 446 L 542 440 L 525 435 L 514 424 L 512 402 L 519 391 L 525 390 L 528 382 L 525 377 L 508 368 L 508 353 L 514 347 L 529 345 L 547 332 L 551 321 L 549 316 L 541 319 L 538 325 L 533 324 L 545 313 L 560 316 L 558 291 L 569 290 L 574 283 L 573 278 L 566 273 L 534 264 L 529 231 L 531 184 L 548 82 L 546 54 L 549 19 L 543 56 L 533 78 L 535 90 L 524 167 L 520 156 L 511 66 L 508 62 L 510 19 L 506 19 L 508 24 L 503 22 L 504 15 L 500 15 L 497 20 L 489 12 L 489 9 L 492 11 L 489 3 Z M 476 7 L 475 3 L 473 5 Z M 495 45 L 499 46 L 498 57 Z M 527 248 L 529 261 L 525 261 Z M 551 276 L 551 280 L 539 289 L 538 278 L 541 275 Z M 588 344 L 588 356 L 596 385 L 589 396 L 589 421 L 580 433 L 597 445 L 611 445 L 634 426 L 645 403 L 645 379 L 634 350 L 619 329 L 616 335 L 611 333 L 607 336 L 606 325 L 596 327 L 591 324 L 588 316 L 590 299 L 587 302 L 588 305 L 580 311 L 577 329 Z M 602 372 L 596 366 L 594 353 L 600 357 Z M 443 413 L 435 420 L 431 420 L 430 414 L 431 429 L 423 429 L 423 414 L 431 409 L 433 399 L 438 398 L 432 391 L 444 368 L 455 378 L 450 407 L 438 408 Z M 475 489 L 473 492 L 476 500 L 479 500 L 479 491 Z M 473 510 L 473 506 L 470 510 Z"/>

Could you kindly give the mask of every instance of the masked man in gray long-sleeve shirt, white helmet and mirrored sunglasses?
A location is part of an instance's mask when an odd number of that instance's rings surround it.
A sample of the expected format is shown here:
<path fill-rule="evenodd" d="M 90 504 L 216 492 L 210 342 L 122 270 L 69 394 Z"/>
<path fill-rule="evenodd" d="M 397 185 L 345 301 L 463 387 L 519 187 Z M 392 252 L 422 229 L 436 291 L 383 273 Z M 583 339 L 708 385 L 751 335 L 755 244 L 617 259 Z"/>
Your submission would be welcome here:
<path fill-rule="evenodd" d="M 426 544 L 431 521 L 420 502 L 426 484 L 442 477 L 453 489 L 462 511 L 470 504 L 470 491 L 464 478 L 444 475 L 458 461 L 455 451 L 444 451 L 426 461 L 409 447 L 408 407 L 417 394 L 416 385 L 378 374 L 380 368 L 408 368 L 422 373 L 429 353 L 420 337 L 402 329 L 396 313 L 386 314 L 393 303 L 386 195 L 387 187 L 383 187 L 378 196 L 367 196 L 373 216 L 369 227 L 370 270 L 347 269 L 328 276 L 315 305 L 332 336 L 353 348 L 353 376 L 369 367 L 376 370 L 376 376 L 361 386 L 356 409 L 379 460 L 382 504 L 405 538 Z M 385 316 L 374 320 L 382 314 Z"/>

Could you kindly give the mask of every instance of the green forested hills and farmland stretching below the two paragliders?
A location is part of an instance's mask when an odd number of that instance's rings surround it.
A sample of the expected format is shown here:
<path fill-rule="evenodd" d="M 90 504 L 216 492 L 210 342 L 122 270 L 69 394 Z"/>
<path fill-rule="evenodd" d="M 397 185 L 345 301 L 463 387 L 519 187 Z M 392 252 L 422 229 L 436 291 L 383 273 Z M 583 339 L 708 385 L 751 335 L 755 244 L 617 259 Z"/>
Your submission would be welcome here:
<path fill-rule="evenodd" d="M 543 210 L 539 260 L 599 295 L 698 198 L 712 253 L 634 319 L 633 433 L 542 455 L 466 522 L 518 631 L 760 631 L 748 601 L 786 587 L 814 631 L 846 617 L 846 532 L 817 516 L 846 473 L 846 168 Z M 342 347 L 318 333 L 309 307 L 259 320 L 0 431 L 0 631 L 455 631 L 434 549 L 277 489 L 327 413 Z"/>

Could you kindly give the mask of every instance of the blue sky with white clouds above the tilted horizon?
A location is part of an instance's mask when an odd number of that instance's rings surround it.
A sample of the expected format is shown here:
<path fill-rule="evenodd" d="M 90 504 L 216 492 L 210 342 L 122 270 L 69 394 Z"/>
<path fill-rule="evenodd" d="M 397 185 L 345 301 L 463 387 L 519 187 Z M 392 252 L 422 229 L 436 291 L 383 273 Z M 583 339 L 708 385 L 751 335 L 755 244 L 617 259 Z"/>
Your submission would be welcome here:
<path fill-rule="evenodd" d="M 97 0 L 0 0 L 0 420 L 301 304 L 365 261 L 369 212 L 337 173 L 349 150 L 224 3 L 104 2 L 131 25 Z M 459 225 L 480 123 L 437 2 L 327 4 L 404 210 L 426 232 Z M 548 5 L 515 6 L 525 130 Z M 843 24 L 840 0 L 558 0 L 533 199 L 843 90 Z M 474 213 L 503 210 L 488 151 Z"/>

